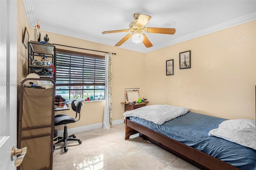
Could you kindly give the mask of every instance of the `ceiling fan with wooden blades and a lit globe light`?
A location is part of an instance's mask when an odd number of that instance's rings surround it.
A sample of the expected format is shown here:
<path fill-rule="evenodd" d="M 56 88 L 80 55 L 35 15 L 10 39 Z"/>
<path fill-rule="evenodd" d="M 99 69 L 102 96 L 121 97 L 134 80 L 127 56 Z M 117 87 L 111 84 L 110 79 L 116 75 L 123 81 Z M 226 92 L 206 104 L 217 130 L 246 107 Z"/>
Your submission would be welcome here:
<path fill-rule="evenodd" d="M 118 43 L 116 43 L 115 46 L 120 46 L 126 40 L 128 40 L 130 37 L 132 37 L 132 42 L 135 43 L 144 43 L 146 47 L 152 47 L 152 43 L 148 40 L 146 34 L 142 33 L 147 32 L 147 33 L 158 33 L 158 34 L 174 34 L 175 28 L 146 28 L 146 24 L 150 20 L 151 16 L 148 16 L 146 14 L 140 14 L 140 13 L 135 13 L 132 15 L 134 18 L 134 21 L 130 22 L 129 24 L 129 29 L 126 30 L 113 30 L 113 31 L 104 31 L 102 34 L 109 34 L 109 33 L 116 33 L 116 32 L 132 32 L 127 34 L 122 40 L 120 40 Z"/>

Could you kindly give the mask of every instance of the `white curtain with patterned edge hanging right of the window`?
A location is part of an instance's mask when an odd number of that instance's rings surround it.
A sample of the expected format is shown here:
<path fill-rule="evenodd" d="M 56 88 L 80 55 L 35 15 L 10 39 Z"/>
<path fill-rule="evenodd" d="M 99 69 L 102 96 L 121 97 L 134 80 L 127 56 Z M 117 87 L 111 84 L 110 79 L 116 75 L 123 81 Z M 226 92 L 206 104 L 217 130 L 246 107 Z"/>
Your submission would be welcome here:
<path fill-rule="evenodd" d="M 112 53 L 105 55 L 105 107 L 103 115 L 103 128 L 110 129 L 112 124 Z"/>

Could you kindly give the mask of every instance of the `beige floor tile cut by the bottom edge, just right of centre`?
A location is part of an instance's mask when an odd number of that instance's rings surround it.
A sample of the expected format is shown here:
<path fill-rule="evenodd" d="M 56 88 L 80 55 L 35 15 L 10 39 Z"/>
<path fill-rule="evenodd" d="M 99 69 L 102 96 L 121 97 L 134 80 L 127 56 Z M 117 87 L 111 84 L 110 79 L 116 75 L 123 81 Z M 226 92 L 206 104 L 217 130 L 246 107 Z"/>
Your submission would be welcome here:
<path fill-rule="evenodd" d="M 132 169 L 136 170 L 161 170 L 168 166 L 166 163 L 162 162 L 160 159 L 150 154 L 146 150 L 133 156 L 130 156 L 124 159 L 124 161 Z"/>

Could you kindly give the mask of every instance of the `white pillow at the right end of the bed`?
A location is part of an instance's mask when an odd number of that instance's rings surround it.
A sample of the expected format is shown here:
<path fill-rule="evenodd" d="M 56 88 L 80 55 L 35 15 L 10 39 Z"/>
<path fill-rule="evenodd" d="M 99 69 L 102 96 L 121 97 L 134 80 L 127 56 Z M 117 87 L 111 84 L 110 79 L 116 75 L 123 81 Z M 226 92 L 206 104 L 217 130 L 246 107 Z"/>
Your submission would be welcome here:
<path fill-rule="evenodd" d="M 209 131 L 217 136 L 256 150 L 255 120 L 232 119 L 223 121 L 218 128 Z"/>

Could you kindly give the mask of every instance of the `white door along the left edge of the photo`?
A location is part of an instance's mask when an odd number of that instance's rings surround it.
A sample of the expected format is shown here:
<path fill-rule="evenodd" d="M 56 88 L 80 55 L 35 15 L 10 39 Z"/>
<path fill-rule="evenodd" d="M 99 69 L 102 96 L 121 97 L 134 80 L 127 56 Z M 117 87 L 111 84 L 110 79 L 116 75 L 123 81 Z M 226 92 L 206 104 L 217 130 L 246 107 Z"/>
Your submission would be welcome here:
<path fill-rule="evenodd" d="M 0 170 L 16 170 L 11 161 L 17 144 L 16 83 L 17 1 L 0 0 Z"/>

